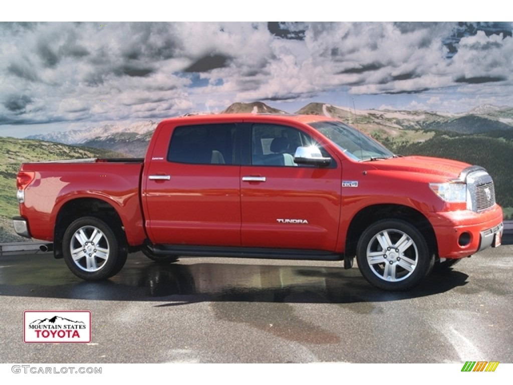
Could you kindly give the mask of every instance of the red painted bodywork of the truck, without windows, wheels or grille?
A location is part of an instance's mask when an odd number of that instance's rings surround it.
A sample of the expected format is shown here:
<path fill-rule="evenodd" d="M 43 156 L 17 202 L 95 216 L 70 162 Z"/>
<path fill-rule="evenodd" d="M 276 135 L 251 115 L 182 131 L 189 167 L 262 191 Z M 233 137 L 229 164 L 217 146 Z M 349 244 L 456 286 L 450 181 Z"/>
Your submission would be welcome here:
<path fill-rule="evenodd" d="M 480 232 L 502 223 L 502 209 L 497 204 L 477 213 L 462 204 L 442 201 L 429 188 L 429 183 L 458 178 L 468 164 L 426 157 L 355 161 L 307 124 L 330 120 L 314 115 L 258 114 L 165 120 L 157 126 L 144 162 L 22 165 L 21 171 L 32 171 L 35 177 L 24 189 L 20 214 L 28 222 L 30 236 L 53 241 L 64 205 L 94 198 L 115 209 L 127 241 L 134 247 L 147 240 L 153 244 L 314 249 L 342 255 L 350 241 L 348 228 L 361 210 L 396 205 L 415 210 L 429 221 L 442 258 L 476 253 Z M 235 165 L 202 165 L 167 160 L 175 127 L 214 123 L 293 127 L 323 145 L 332 167 L 274 167 L 243 160 Z M 234 151 L 240 151 L 244 143 Z M 151 180 L 149 176 L 170 179 Z M 243 181 L 247 176 L 265 177 L 266 181 Z M 342 187 L 342 181 L 358 181 L 358 187 Z M 458 239 L 464 232 L 471 240 L 460 246 Z"/>

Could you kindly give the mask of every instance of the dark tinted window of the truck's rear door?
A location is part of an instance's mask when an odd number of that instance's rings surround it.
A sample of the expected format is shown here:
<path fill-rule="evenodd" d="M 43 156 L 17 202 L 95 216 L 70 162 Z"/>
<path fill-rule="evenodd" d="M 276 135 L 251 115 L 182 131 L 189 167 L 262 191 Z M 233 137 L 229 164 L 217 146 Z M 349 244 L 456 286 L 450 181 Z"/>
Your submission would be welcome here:
<path fill-rule="evenodd" d="M 176 127 L 167 160 L 190 164 L 234 164 L 235 124 Z"/>

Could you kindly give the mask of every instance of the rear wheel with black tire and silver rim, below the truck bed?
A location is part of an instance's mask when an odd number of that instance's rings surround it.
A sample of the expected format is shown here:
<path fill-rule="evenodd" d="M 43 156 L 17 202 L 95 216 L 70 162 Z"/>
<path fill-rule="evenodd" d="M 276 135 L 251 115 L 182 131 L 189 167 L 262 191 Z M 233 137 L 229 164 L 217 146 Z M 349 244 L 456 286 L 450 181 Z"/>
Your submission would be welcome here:
<path fill-rule="evenodd" d="M 66 229 L 63 256 L 77 277 L 101 281 L 119 273 L 126 262 L 127 252 L 107 223 L 95 217 L 83 217 Z"/>

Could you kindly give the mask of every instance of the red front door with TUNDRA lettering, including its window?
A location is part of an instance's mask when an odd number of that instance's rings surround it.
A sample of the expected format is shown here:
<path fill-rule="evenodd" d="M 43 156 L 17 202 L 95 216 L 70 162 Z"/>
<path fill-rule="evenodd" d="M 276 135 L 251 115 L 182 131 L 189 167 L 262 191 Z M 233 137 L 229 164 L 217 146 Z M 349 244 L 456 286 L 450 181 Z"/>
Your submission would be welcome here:
<path fill-rule="evenodd" d="M 334 251 L 340 164 L 335 158 L 322 168 L 295 164 L 295 149 L 315 144 L 298 128 L 250 123 L 245 128 L 250 134 L 241 167 L 242 245 Z"/>

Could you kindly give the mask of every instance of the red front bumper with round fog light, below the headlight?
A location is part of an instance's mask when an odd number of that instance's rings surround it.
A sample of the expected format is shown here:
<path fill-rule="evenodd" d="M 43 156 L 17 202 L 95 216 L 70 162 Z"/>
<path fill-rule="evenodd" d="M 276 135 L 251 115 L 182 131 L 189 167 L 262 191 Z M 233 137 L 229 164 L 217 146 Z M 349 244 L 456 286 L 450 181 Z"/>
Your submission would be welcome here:
<path fill-rule="evenodd" d="M 431 213 L 440 258 L 464 258 L 500 244 L 503 215 L 499 205 L 482 213 L 447 211 Z"/>

